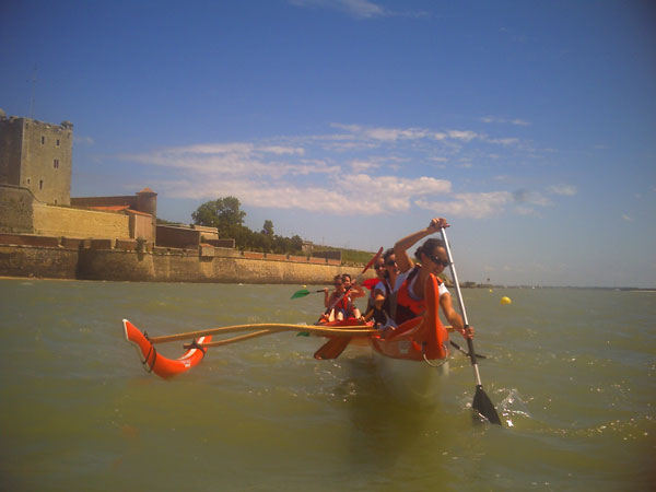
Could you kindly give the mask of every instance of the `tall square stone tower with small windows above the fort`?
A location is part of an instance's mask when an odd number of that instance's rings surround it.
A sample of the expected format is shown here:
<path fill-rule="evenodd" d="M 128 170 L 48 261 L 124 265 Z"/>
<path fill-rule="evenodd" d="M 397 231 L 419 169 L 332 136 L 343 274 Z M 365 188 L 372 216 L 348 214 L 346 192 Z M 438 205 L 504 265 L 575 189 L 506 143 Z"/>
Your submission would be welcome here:
<path fill-rule="evenodd" d="M 0 183 L 27 188 L 39 200 L 70 204 L 73 124 L 7 117 L 0 109 Z"/>

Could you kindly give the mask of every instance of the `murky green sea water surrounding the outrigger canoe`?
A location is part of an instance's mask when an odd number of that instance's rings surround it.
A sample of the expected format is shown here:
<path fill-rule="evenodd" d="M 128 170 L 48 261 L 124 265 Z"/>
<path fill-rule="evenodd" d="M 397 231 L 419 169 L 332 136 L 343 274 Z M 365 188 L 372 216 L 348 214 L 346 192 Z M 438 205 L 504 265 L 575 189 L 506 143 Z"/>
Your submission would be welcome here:
<path fill-rule="evenodd" d="M 164 382 L 122 338 L 122 318 L 153 336 L 313 323 L 300 288 L 0 280 L 0 490 L 656 488 L 653 292 L 465 290 L 503 429 L 472 419 L 461 354 L 418 409 L 364 349 L 315 361 L 320 339 L 279 333 Z"/>

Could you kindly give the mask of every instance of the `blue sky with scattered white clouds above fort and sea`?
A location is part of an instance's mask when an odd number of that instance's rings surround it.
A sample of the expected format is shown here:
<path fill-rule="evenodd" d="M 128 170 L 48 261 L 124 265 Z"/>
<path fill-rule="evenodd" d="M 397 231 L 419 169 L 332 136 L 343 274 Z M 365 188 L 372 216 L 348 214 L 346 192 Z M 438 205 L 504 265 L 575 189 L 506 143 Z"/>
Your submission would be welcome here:
<path fill-rule="evenodd" d="M 656 288 L 654 2 L 0 2 L 0 72 L 73 122 L 73 197 L 371 251 L 444 216 L 460 281 Z"/>

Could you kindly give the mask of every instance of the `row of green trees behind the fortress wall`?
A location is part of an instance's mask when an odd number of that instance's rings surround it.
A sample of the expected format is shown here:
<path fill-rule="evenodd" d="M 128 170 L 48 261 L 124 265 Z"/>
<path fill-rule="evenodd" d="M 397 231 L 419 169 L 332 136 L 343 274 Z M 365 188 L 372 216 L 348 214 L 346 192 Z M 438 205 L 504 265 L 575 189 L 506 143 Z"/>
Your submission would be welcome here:
<path fill-rule="evenodd" d="M 191 219 L 196 225 L 216 227 L 219 237 L 235 239 L 235 247 L 242 250 L 300 255 L 303 239 L 298 235 L 285 237 L 273 232 L 273 221 L 266 220 L 261 231 L 253 231 L 244 225 L 246 212 L 235 197 L 206 201 Z"/>

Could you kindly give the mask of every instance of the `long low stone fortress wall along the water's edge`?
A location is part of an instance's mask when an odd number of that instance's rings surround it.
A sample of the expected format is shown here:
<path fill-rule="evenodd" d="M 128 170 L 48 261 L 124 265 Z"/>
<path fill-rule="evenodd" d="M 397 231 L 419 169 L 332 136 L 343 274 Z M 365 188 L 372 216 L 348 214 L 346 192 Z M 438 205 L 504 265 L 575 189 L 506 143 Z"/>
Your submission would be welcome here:
<path fill-rule="evenodd" d="M 325 284 L 338 273 L 356 276 L 360 268 L 329 258 L 239 251 L 209 244 L 171 248 L 138 239 L 0 234 L 1 277 Z"/>

